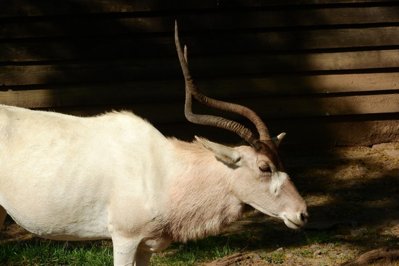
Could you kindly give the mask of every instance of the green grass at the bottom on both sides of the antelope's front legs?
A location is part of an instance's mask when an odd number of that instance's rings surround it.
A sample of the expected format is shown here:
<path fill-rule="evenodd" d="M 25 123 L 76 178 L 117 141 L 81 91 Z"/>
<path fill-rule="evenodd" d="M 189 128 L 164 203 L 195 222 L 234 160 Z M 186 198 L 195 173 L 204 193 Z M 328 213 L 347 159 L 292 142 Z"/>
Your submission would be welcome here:
<path fill-rule="evenodd" d="M 108 243 L 108 242 L 107 242 Z M 151 259 L 151 266 L 194 266 L 237 252 L 224 236 L 197 242 L 173 243 Z M 91 242 L 35 239 L 29 243 L 0 244 L 1 266 L 112 266 L 112 246 Z"/>

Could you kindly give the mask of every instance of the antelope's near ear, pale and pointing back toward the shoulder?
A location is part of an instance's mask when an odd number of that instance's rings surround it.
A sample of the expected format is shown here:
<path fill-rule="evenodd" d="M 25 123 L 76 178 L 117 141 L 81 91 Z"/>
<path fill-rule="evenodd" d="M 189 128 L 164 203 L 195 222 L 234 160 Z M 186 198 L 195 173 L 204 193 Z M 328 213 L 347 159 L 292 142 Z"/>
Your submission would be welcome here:
<path fill-rule="evenodd" d="M 209 141 L 204 138 L 195 136 L 197 141 L 201 143 L 206 149 L 213 152 L 215 156 L 225 164 L 228 165 L 238 165 L 241 159 L 241 154 L 233 148 Z"/>

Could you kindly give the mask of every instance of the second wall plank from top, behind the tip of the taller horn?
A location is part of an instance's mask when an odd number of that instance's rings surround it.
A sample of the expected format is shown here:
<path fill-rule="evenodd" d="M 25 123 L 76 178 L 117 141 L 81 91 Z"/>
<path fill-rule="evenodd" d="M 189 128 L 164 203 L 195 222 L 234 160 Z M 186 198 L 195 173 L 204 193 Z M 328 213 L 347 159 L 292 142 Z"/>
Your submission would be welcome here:
<path fill-rule="evenodd" d="M 106 34 L 172 33 L 175 20 L 179 30 L 237 30 L 276 27 L 395 23 L 398 6 L 324 8 L 298 10 L 237 10 L 151 17 L 46 17 L 38 21 L 3 20 L 0 38 L 64 37 Z M 240 21 L 237 23 L 237 21 Z M 358 26 L 356 26 L 358 25 Z M 378 26 L 376 24 L 375 26 Z M 172 36 L 172 35 L 171 35 Z"/>

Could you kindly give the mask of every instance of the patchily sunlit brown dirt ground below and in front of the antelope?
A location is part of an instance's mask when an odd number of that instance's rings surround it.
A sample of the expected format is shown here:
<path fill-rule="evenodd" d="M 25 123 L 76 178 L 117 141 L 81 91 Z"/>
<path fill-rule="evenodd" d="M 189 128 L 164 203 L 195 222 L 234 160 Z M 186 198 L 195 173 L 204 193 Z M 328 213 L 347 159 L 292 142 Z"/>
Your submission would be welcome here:
<path fill-rule="evenodd" d="M 235 244 L 244 256 L 232 265 L 338 266 L 370 250 L 399 250 L 399 143 L 290 150 L 283 157 L 308 203 L 309 223 L 292 231 L 247 208 L 223 232 L 232 245 L 235 234 L 245 236 Z M 32 235 L 8 219 L 0 238 L 6 243 Z"/>

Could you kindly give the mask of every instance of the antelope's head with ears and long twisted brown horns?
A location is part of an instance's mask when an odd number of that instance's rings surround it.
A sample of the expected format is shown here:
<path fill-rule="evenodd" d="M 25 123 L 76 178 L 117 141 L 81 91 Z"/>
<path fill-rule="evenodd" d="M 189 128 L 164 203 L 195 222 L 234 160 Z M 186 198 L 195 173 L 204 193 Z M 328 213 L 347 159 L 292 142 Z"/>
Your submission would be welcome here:
<path fill-rule="evenodd" d="M 266 125 L 260 117 L 247 107 L 211 99 L 202 95 L 194 85 L 188 69 L 187 48 L 181 49 L 177 22 L 175 25 L 175 43 L 185 79 L 184 114 L 190 122 L 211 125 L 232 131 L 247 141 L 250 146 L 230 148 L 206 139 L 196 137 L 217 159 L 235 171 L 234 193 L 243 203 L 253 206 L 261 212 L 282 219 L 289 228 L 300 228 L 307 223 L 307 205 L 299 195 L 290 177 L 284 170 L 277 146 L 285 133 L 271 138 Z M 219 110 L 240 114 L 250 119 L 259 134 L 257 137 L 241 124 L 218 116 L 193 114 L 191 97 L 202 104 Z"/>

